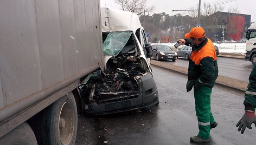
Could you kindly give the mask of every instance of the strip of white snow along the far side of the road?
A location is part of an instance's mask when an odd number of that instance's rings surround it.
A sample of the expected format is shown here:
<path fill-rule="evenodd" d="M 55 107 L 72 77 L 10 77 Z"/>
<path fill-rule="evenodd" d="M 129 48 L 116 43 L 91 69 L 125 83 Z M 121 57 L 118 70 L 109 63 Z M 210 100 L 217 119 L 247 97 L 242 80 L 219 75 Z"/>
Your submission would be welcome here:
<path fill-rule="evenodd" d="M 151 43 L 151 45 L 153 45 L 153 44 L 163 44 L 163 45 L 168 45 L 169 47 L 173 48 L 175 42 Z M 220 52 L 245 54 L 245 44 L 246 43 L 213 43 L 213 44 L 219 48 Z"/>

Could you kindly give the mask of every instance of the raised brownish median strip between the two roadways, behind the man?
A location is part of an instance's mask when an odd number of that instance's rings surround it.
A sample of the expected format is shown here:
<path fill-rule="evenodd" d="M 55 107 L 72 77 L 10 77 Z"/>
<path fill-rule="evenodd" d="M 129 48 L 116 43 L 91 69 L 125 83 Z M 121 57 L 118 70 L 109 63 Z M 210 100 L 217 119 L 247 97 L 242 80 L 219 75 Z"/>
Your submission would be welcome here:
<path fill-rule="evenodd" d="M 163 63 L 161 61 L 155 61 L 155 60 L 151 60 L 150 64 L 155 66 L 155 67 L 160 67 L 160 68 L 164 68 L 164 69 L 173 71 L 175 73 L 188 75 L 188 73 L 187 73 L 188 68 L 180 67 L 180 66 L 173 65 L 173 64 L 168 64 L 167 65 L 166 63 Z M 247 85 L 248 85 L 248 82 L 236 80 L 234 78 L 225 77 L 225 76 L 218 76 L 215 83 L 219 84 L 219 85 L 223 85 L 223 86 L 228 87 L 228 88 L 243 91 L 243 92 L 247 89 Z"/>

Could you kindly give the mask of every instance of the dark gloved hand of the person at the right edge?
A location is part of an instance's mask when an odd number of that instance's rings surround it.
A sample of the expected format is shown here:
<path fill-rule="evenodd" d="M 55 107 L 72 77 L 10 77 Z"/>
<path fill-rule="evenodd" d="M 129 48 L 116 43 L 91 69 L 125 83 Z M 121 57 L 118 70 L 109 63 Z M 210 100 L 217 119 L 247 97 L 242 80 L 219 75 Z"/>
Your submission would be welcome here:
<path fill-rule="evenodd" d="M 254 123 L 256 127 L 256 115 L 252 111 L 245 111 L 244 116 L 242 116 L 241 120 L 236 124 L 236 127 L 239 126 L 238 131 L 241 129 L 241 134 L 244 134 L 245 128 L 252 129 L 251 124 Z"/>

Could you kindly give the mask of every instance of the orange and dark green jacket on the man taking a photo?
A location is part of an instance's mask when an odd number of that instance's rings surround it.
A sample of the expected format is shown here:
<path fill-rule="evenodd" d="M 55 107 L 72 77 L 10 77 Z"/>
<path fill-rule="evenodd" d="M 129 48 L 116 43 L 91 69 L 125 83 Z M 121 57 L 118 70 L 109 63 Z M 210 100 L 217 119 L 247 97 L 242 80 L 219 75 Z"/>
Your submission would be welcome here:
<path fill-rule="evenodd" d="M 185 39 L 185 45 L 191 45 L 189 39 Z M 199 45 L 191 45 L 191 47 L 187 91 L 190 91 L 193 86 L 213 87 L 219 73 L 213 42 L 207 38 Z"/>

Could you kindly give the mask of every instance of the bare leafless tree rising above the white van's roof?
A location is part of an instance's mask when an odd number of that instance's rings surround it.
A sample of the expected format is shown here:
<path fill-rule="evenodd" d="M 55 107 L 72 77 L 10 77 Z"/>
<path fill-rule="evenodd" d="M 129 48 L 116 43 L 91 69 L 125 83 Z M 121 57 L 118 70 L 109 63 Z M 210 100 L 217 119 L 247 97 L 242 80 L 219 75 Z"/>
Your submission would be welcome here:
<path fill-rule="evenodd" d="M 147 12 L 149 15 L 150 12 L 155 10 L 155 6 L 146 7 L 147 1 L 148 0 L 115 0 L 114 2 L 121 5 L 122 10 L 134 12 L 138 15 L 144 15 L 144 12 Z"/>

